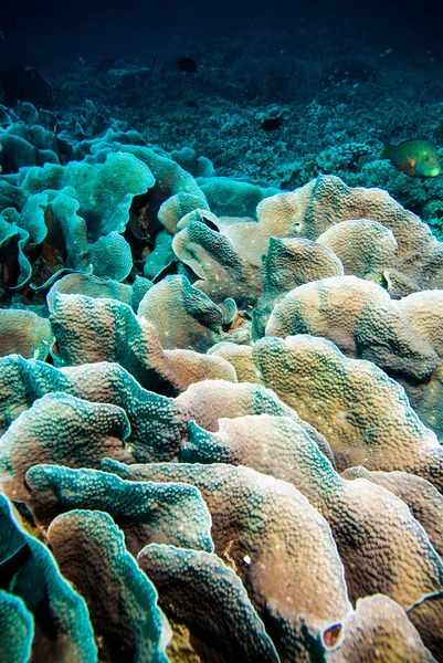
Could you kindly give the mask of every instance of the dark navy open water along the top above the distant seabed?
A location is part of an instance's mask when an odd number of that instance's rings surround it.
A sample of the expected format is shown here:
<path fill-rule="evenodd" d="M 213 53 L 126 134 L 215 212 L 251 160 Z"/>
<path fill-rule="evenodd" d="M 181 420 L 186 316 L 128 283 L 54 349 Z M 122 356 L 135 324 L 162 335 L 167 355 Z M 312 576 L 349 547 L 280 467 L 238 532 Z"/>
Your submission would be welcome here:
<path fill-rule="evenodd" d="M 376 0 L 365 7 L 356 2 L 234 2 L 198 1 L 161 3 L 126 2 L 99 4 L 80 0 L 63 7 L 44 3 L 7 3 L 2 11 L 1 57 L 11 64 L 41 65 L 66 55 L 120 56 L 140 50 L 187 48 L 192 50 L 205 38 L 247 39 L 254 29 L 267 31 L 270 39 L 292 31 L 294 42 L 306 22 L 313 33 L 329 29 L 333 45 L 341 52 L 344 40 L 395 48 L 402 55 L 434 55 L 441 45 L 442 9 L 425 1 L 404 3 Z M 295 43 L 294 43 L 295 46 Z M 208 44 L 209 48 L 209 44 Z M 213 56 L 217 60 L 217 49 Z"/>

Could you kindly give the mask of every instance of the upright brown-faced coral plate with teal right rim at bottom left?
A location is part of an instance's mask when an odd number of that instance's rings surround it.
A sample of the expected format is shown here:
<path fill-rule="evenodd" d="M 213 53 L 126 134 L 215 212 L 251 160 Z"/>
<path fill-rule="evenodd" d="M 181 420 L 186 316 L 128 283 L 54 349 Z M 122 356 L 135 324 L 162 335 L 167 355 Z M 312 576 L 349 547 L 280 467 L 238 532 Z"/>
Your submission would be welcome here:
<path fill-rule="evenodd" d="M 108 660 L 167 663 L 170 629 L 156 589 L 125 549 L 110 516 L 71 511 L 54 518 L 48 536 L 62 572 L 86 598 Z"/>

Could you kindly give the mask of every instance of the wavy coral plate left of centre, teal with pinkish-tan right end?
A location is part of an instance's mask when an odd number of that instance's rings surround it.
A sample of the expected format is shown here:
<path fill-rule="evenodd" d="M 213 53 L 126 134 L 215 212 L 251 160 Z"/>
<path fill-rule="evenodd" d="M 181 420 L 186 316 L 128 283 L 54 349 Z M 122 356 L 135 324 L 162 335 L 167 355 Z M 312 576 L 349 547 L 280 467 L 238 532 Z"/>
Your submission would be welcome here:
<path fill-rule="evenodd" d="M 234 369 L 222 358 L 164 350 L 154 327 L 114 299 L 56 295 L 51 323 L 60 366 L 115 361 L 143 387 L 166 396 L 202 379 L 236 380 Z"/>

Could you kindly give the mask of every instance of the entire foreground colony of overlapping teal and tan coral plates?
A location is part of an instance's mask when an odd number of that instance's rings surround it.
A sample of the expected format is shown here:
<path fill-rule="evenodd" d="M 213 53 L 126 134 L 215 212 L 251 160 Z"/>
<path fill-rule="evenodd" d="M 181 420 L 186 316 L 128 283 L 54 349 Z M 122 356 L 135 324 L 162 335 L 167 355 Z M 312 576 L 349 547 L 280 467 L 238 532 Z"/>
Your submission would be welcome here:
<path fill-rule="evenodd" d="M 1 661 L 443 661 L 443 243 L 1 113 Z"/>

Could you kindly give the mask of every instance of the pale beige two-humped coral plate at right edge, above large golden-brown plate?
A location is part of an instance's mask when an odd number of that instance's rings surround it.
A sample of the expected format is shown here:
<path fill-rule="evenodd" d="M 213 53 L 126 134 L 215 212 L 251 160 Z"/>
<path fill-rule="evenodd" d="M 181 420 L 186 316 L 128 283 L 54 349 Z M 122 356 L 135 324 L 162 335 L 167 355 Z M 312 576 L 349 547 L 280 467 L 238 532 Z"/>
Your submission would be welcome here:
<path fill-rule="evenodd" d="M 347 356 L 369 359 L 404 387 L 423 422 L 442 433 L 434 407 L 441 387 L 442 291 L 392 299 L 384 288 L 355 276 L 296 287 L 273 309 L 265 333 L 323 336 Z"/>

